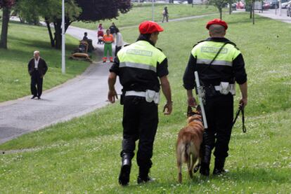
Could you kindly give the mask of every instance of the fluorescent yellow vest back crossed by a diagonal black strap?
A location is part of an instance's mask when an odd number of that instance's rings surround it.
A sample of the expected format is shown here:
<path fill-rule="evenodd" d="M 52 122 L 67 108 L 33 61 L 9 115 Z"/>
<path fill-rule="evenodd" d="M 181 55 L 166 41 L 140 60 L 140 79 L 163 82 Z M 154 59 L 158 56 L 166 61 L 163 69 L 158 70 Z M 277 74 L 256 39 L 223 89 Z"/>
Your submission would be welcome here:
<path fill-rule="evenodd" d="M 224 42 L 204 41 L 198 43 L 191 53 L 197 59 L 197 64 L 210 64 Z M 233 60 L 240 55 L 240 50 L 228 43 L 222 48 L 213 65 L 233 66 Z"/>

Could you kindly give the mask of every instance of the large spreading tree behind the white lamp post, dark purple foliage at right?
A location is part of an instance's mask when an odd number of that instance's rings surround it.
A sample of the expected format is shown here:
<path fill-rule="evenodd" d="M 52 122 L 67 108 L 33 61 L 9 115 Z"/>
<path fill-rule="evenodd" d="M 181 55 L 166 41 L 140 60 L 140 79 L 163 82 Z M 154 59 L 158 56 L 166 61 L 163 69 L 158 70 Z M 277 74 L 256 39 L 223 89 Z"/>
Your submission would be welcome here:
<path fill-rule="evenodd" d="M 61 11 L 62 1 L 60 0 L 18 0 L 19 10 L 25 20 L 32 13 L 39 14 L 38 17 L 45 19 L 48 35 L 51 39 L 51 46 L 60 48 L 61 46 Z M 65 0 L 65 30 L 72 22 L 96 22 L 116 18 L 119 13 L 127 13 L 131 8 L 130 0 Z M 25 13 L 23 13 L 25 12 Z M 28 14 L 29 12 L 30 14 Z M 51 32 L 51 25 L 55 32 Z"/>

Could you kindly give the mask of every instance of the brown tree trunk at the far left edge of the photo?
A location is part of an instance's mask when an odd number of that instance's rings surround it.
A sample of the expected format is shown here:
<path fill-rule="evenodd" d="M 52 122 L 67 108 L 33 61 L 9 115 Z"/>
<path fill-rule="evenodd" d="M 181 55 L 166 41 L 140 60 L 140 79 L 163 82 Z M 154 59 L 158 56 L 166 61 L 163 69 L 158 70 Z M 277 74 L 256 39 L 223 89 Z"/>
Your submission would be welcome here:
<path fill-rule="evenodd" d="M 14 3 L 14 0 L 0 0 L 0 8 L 3 9 L 0 48 L 7 49 L 8 23 L 11 7 Z"/>

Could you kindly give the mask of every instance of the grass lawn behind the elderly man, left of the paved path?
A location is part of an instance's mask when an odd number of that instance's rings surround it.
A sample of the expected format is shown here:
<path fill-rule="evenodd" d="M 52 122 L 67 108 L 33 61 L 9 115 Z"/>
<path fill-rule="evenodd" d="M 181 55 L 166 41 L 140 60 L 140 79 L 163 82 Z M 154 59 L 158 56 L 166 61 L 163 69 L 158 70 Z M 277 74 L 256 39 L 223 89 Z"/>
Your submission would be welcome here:
<path fill-rule="evenodd" d="M 63 75 L 61 73 L 61 52 L 51 48 L 46 27 L 10 22 L 8 50 L 0 48 L 0 102 L 30 95 L 30 76 L 27 72 L 27 64 L 33 57 L 34 50 L 39 50 L 41 57 L 48 64 L 48 72 L 44 77 L 44 90 L 81 74 L 89 63 L 68 59 L 72 50 L 77 48 L 78 43 L 78 40 L 72 36 L 66 36 L 66 74 Z"/>

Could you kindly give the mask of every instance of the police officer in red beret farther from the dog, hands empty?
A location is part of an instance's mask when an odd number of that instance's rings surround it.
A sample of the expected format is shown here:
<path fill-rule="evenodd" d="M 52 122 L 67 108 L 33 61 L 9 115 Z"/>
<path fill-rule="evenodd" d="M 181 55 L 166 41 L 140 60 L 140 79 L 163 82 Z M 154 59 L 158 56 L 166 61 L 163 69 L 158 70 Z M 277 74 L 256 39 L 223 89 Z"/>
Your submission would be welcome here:
<path fill-rule="evenodd" d="M 167 75 L 167 57 L 155 47 L 157 38 L 163 29 L 156 22 L 145 21 L 139 25 L 140 35 L 135 43 L 119 50 L 115 62 L 110 68 L 108 78 L 108 100 L 112 103 L 117 98 L 115 81 L 123 86 L 121 104 L 123 110 L 122 167 L 119 184 L 127 186 L 131 171 L 131 158 L 134 157 L 136 140 L 138 151 L 136 160 L 139 167 L 138 183 L 153 179 L 148 176 L 153 155 L 153 142 L 157 132 L 157 104 L 160 99 L 160 85 L 167 99 L 164 114 L 172 112 L 172 97 Z"/>

